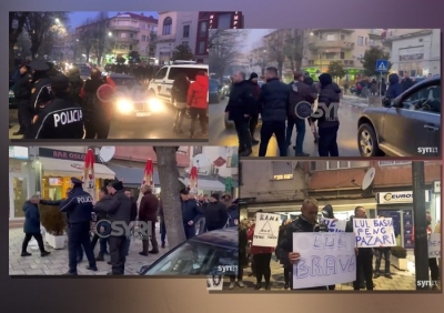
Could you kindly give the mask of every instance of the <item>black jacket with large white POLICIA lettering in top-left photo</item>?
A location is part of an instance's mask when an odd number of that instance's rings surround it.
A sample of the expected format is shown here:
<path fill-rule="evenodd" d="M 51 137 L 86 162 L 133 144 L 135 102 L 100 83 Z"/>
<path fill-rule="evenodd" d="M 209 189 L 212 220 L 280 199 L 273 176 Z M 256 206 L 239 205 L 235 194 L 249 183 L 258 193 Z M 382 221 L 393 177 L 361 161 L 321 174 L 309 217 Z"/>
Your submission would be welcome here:
<path fill-rule="evenodd" d="M 27 139 L 82 139 L 83 112 L 68 95 L 58 95 L 34 117 Z"/>

